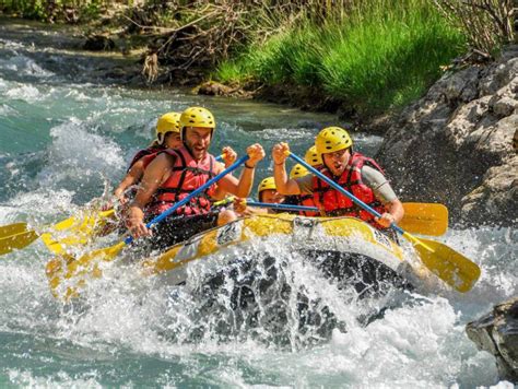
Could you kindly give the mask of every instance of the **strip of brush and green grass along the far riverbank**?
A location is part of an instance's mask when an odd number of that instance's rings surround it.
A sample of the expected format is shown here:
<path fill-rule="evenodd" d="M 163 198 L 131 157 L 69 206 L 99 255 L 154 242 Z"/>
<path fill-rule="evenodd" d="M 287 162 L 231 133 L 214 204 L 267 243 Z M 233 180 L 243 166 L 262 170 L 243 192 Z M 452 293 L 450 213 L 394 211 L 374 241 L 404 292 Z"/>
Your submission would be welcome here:
<path fill-rule="evenodd" d="M 322 106 L 320 99 L 330 102 L 323 105 L 328 110 L 367 117 L 423 96 L 462 55 L 471 61 L 497 56 L 514 39 L 513 5 L 513 0 L 3 0 L 0 10 L 83 23 L 92 31 L 101 26 L 125 37 L 126 48 L 143 45 L 149 82 L 177 81 L 195 71 L 202 75 L 192 80 L 219 81 L 231 91 L 284 94 L 289 101 L 302 92 L 311 96 L 308 108 Z"/>

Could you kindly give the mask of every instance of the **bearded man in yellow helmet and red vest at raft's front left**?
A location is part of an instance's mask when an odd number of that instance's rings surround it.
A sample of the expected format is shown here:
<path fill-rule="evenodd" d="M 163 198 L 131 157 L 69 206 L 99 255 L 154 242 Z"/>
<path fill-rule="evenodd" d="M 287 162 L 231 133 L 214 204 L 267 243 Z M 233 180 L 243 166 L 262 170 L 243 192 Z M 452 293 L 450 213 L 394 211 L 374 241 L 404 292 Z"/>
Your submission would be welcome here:
<path fill-rule="evenodd" d="M 181 148 L 165 150 L 148 166 L 127 217 L 131 235 L 136 238 L 153 235 L 152 244 L 157 248 L 186 240 L 192 235 L 236 217 L 228 210 L 211 210 L 210 198 L 216 189 L 212 186 L 167 220 L 158 223 L 153 234 L 145 227 L 144 212 L 145 220 L 153 219 L 224 169 L 208 152 L 215 129 L 214 117 L 208 109 L 187 108 L 180 116 L 179 126 Z M 222 191 L 236 197 L 248 197 L 256 165 L 264 157 L 264 151 L 256 143 L 248 146 L 247 154 L 249 160 L 239 179 L 226 175 L 217 182 Z"/>

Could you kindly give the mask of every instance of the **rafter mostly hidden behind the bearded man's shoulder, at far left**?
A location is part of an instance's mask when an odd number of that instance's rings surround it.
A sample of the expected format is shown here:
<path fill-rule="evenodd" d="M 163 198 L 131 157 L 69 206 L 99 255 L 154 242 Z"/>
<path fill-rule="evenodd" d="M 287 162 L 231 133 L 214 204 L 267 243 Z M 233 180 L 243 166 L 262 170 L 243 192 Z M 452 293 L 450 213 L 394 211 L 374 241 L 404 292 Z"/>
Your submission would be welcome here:
<path fill-rule="evenodd" d="M 150 144 L 148 149 L 139 151 L 128 167 L 128 173 L 115 189 L 114 196 L 121 204 L 128 202 L 126 190 L 139 184 L 144 175 L 145 167 L 153 161 L 153 158 L 165 149 L 176 149 L 181 146 L 179 113 L 167 113 L 162 115 L 156 122 L 156 139 Z"/>

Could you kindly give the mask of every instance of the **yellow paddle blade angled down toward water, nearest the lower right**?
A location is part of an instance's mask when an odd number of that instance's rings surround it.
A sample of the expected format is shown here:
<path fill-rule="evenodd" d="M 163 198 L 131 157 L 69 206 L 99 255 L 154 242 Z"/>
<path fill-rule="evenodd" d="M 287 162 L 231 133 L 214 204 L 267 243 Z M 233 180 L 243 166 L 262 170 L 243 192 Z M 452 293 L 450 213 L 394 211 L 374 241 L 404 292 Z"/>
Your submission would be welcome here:
<path fill-rule="evenodd" d="M 412 241 L 421 261 L 439 279 L 461 293 L 469 292 L 480 278 L 480 268 L 452 248 L 432 239 L 403 236 Z"/>

